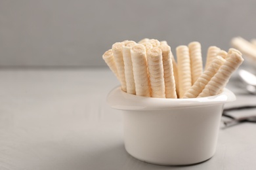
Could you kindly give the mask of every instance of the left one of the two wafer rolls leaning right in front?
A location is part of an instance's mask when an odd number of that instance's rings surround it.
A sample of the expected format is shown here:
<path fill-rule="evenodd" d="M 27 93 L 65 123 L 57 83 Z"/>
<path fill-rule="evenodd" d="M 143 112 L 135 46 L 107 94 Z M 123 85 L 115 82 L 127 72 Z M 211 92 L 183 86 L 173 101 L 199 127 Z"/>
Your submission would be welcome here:
<path fill-rule="evenodd" d="M 211 80 L 211 78 L 217 73 L 221 65 L 223 65 L 225 59 L 221 56 L 217 56 L 211 62 L 211 65 L 207 67 L 207 70 L 198 77 L 198 80 L 193 84 L 193 86 L 183 95 L 183 98 L 196 98 L 203 91 L 206 84 Z"/>

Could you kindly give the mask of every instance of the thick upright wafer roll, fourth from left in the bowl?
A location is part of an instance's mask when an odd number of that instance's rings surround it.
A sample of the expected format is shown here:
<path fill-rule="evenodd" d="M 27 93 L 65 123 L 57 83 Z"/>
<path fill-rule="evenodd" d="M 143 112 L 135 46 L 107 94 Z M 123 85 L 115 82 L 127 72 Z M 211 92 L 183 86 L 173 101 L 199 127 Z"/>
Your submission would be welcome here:
<path fill-rule="evenodd" d="M 131 48 L 131 61 L 133 61 L 136 95 L 150 97 L 150 81 L 144 45 L 136 44 Z"/>

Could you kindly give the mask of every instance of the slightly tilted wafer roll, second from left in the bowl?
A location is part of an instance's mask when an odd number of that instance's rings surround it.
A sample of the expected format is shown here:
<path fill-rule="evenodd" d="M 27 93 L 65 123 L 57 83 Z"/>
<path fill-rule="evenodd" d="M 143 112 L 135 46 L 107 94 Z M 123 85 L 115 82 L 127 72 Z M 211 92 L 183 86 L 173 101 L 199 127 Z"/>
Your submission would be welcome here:
<path fill-rule="evenodd" d="M 121 89 L 123 90 L 123 92 L 126 92 L 125 65 L 123 62 L 123 42 L 116 42 L 115 44 L 113 44 L 112 52 L 116 62 L 119 81 L 121 82 Z"/>

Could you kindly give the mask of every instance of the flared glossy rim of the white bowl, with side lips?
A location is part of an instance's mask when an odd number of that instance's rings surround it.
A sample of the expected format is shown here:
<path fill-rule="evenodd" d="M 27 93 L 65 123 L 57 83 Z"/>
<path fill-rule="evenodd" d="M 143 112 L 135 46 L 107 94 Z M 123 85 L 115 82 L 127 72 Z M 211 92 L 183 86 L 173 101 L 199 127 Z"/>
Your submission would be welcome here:
<path fill-rule="evenodd" d="M 185 107 L 223 105 L 224 103 L 235 100 L 236 95 L 227 88 L 224 88 L 222 93 L 209 97 L 166 99 L 129 94 L 123 92 L 121 86 L 117 86 L 107 96 L 108 105 L 118 110 L 168 110 Z"/>

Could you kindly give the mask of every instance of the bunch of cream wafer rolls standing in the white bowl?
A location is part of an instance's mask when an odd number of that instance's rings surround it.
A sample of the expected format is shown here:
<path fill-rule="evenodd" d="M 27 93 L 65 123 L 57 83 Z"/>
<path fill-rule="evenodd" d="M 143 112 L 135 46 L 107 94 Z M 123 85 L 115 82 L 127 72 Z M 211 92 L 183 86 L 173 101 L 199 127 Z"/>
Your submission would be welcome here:
<path fill-rule="evenodd" d="M 236 39 L 234 44 L 238 42 L 247 43 Z M 253 45 L 246 48 L 256 49 Z M 232 73 L 244 61 L 242 53 L 235 48 L 226 52 L 209 46 L 203 69 L 201 44 L 196 41 L 178 46 L 176 54 L 177 62 L 167 41 L 142 39 L 116 42 L 102 58 L 116 75 L 123 92 L 173 99 L 207 97 L 223 92 Z"/>

